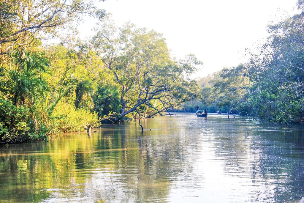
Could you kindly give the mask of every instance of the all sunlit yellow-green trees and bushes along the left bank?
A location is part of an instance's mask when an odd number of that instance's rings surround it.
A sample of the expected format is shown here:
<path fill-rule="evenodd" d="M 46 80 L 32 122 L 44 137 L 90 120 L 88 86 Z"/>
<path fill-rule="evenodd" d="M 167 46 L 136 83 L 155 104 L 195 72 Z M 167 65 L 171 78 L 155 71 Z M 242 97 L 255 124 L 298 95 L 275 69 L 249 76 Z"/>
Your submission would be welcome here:
<path fill-rule="evenodd" d="M 93 1 L 4 0 L 0 9 L 2 144 L 170 114 L 199 94 L 189 76 L 201 61 L 172 59 L 162 34 L 116 26 Z M 99 20 L 85 41 L 71 37 L 84 15 Z M 61 43 L 44 43 L 53 38 Z"/>

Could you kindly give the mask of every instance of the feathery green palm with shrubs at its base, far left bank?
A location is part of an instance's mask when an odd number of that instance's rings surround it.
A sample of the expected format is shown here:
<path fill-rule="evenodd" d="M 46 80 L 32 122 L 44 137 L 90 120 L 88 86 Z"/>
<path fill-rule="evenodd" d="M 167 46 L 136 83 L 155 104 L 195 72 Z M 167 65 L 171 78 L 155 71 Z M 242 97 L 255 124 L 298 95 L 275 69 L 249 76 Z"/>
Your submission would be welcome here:
<path fill-rule="evenodd" d="M 3 111 L 1 115 L 3 128 L 6 129 L 1 132 L 1 135 L 2 141 L 5 142 L 21 142 L 22 139 L 29 139 L 28 136 L 31 133 L 45 139 L 47 132 L 45 125 L 41 123 L 41 118 L 43 117 L 43 101 L 49 90 L 43 74 L 48 73 L 49 61 L 40 52 L 25 52 L 24 55 L 22 58 L 19 51 L 14 51 L 10 55 L 14 70 L 6 72 L 6 77 L 1 82 L 6 83 L 0 89 L 5 94 L 1 103 L 12 108 L 12 110 Z M 18 118 L 21 120 L 18 121 Z"/>

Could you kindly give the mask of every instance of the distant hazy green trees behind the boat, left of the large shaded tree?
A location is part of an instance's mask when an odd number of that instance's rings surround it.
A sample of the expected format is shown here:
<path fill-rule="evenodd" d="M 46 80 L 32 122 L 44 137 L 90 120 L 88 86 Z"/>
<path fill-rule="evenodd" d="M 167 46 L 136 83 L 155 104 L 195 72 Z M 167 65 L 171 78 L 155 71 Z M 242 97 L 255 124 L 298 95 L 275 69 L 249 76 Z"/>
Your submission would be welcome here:
<path fill-rule="evenodd" d="M 244 65 L 223 68 L 219 72 L 198 80 L 200 84 L 200 100 L 185 103 L 183 108 L 194 111 L 196 106 L 207 109 L 210 113 L 221 110 L 222 113 L 238 113 L 249 111 L 247 107 L 248 88 L 251 83 L 245 76 Z"/>

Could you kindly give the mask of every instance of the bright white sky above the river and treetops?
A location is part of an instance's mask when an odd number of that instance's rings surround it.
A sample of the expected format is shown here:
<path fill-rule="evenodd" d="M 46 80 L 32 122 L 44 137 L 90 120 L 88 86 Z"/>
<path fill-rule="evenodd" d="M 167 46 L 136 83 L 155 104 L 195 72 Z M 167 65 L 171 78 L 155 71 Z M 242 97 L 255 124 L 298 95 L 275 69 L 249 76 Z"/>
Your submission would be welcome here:
<path fill-rule="evenodd" d="M 163 33 L 177 59 L 195 54 L 204 65 L 195 77 L 246 62 L 245 48 L 262 43 L 267 25 L 296 12 L 296 0 L 107 0 L 98 7 L 117 25 L 127 21 Z M 93 34 L 93 19 L 79 26 L 79 36 Z"/>

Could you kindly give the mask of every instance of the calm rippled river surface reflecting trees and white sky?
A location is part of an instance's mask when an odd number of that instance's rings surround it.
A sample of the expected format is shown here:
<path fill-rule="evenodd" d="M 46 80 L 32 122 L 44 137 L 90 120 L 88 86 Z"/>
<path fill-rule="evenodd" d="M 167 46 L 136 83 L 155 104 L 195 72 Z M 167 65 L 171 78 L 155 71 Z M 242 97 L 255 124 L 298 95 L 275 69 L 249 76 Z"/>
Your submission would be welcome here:
<path fill-rule="evenodd" d="M 6 202 L 292 202 L 304 130 L 179 114 L 0 147 Z M 151 130 L 150 130 L 151 128 Z M 287 129 L 286 129 L 287 130 Z"/>

